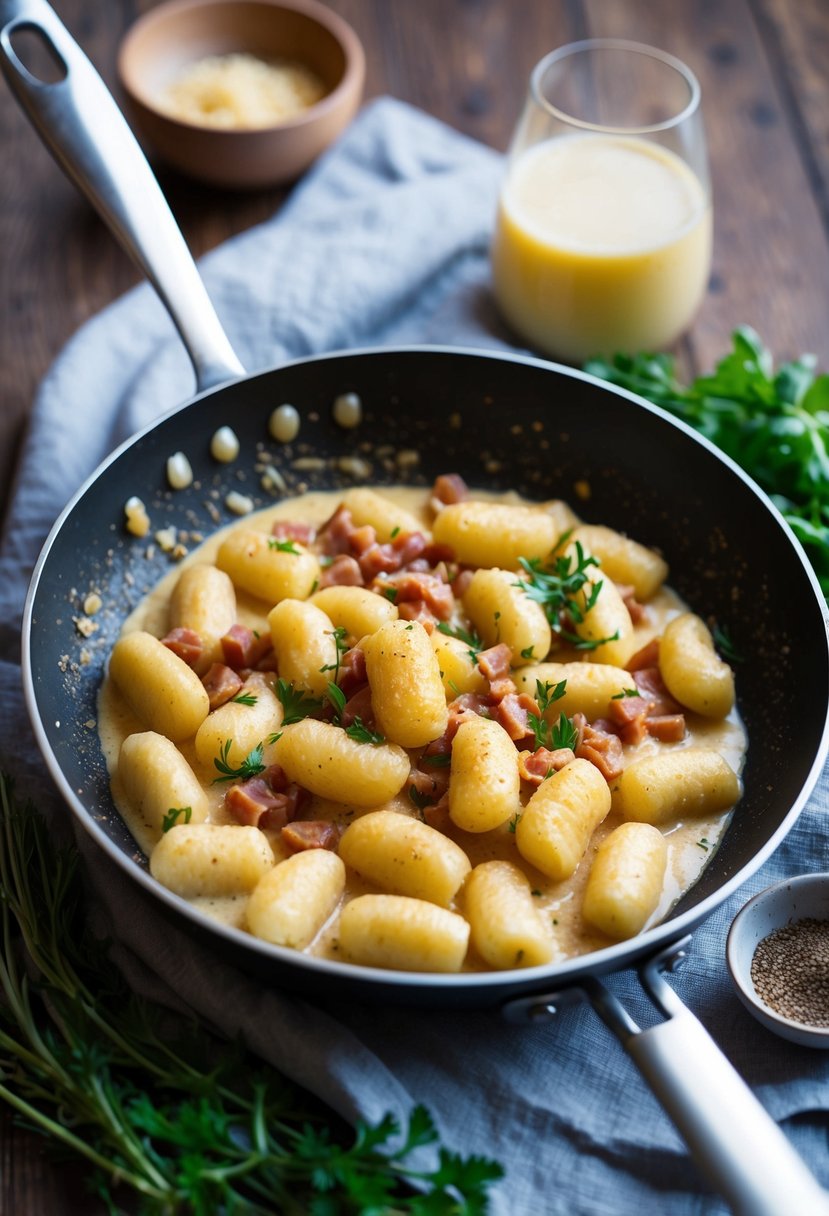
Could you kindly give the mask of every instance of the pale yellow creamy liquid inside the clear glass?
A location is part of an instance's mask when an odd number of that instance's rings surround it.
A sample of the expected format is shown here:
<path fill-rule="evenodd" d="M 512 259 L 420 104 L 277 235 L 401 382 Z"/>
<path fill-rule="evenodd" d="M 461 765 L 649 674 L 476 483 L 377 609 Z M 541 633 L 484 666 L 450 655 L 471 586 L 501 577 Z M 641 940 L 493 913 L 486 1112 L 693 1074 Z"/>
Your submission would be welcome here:
<path fill-rule="evenodd" d="M 498 304 L 534 345 L 573 362 L 673 342 L 703 298 L 710 258 L 701 182 L 647 140 L 548 140 L 518 158 L 502 190 Z"/>

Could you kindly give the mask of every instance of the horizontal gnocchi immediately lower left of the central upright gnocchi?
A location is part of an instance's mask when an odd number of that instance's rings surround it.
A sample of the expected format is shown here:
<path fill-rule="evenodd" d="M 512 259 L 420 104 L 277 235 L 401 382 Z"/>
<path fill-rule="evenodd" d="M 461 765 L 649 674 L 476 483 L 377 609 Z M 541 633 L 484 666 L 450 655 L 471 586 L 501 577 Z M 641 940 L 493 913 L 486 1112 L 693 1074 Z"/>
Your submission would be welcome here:
<path fill-rule="evenodd" d="M 332 722 L 304 717 L 282 730 L 275 758 L 291 781 L 349 806 L 382 806 L 400 793 L 408 756 L 394 743 L 360 743 Z"/>

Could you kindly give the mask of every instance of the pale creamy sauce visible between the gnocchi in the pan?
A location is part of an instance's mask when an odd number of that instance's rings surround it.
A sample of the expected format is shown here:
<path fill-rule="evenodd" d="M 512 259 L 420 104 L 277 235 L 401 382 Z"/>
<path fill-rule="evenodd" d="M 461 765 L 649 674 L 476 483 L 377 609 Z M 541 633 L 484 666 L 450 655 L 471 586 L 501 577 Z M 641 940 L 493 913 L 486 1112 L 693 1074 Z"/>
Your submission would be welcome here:
<path fill-rule="evenodd" d="M 428 491 L 402 486 L 383 486 L 380 492 L 401 507 L 405 507 L 412 514 L 421 518 L 424 530 L 429 529 L 430 516 L 425 505 L 428 500 Z M 494 495 L 487 495 L 478 490 L 474 491 L 474 496 L 475 499 L 495 497 Z M 146 596 L 136 610 L 128 618 L 124 624 L 123 632 L 126 634 L 136 629 L 143 629 L 158 637 L 163 637 L 169 629 L 168 618 L 170 595 L 182 569 L 196 562 L 213 562 L 222 539 L 233 528 L 255 528 L 256 530 L 269 534 L 271 531 L 271 525 L 277 519 L 301 519 L 303 522 L 318 525 L 329 518 L 340 499 L 342 494 L 338 491 L 310 492 L 304 495 L 301 499 L 280 502 L 273 507 L 258 512 L 255 516 L 246 517 L 241 523 L 235 523 L 221 529 L 201 545 L 198 550 L 188 554 L 188 557 L 177 564 L 176 568 L 173 569 L 164 579 L 162 579 L 154 590 Z M 515 503 L 524 501 L 514 494 L 500 495 L 497 499 L 498 501 Z M 534 506 L 538 505 L 534 503 Z M 248 625 L 250 629 L 259 630 L 260 632 L 269 631 L 267 612 L 270 608 L 271 604 L 255 599 L 242 591 L 237 591 L 237 619 L 242 624 Z M 662 587 L 654 596 L 654 598 L 648 602 L 645 618 L 636 627 L 636 642 L 631 653 L 644 646 L 653 637 L 661 634 L 667 621 L 672 617 L 676 617 L 679 612 L 684 610 L 687 610 L 687 607 L 679 597 L 676 596 L 670 589 Z M 554 653 L 557 662 L 569 662 L 580 657 L 583 655 L 579 655 L 577 652 L 570 652 L 566 648 L 562 648 Z M 670 745 L 675 748 L 711 748 L 718 751 L 731 767 L 739 773 L 745 754 L 746 741 L 744 730 L 735 711 L 733 711 L 724 721 L 716 722 L 706 721 L 693 714 L 687 714 L 686 717 L 688 731 L 684 741 L 682 743 Z M 156 833 L 151 831 L 139 816 L 135 815 L 132 807 L 130 807 L 124 796 L 124 792 L 118 778 L 118 754 L 123 741 L 136 731 L 147 730 L 147 725 L 148 724 L 140 721 L 134 715 L 114 685 L 108 679 L 105 680 L 98 698 L 98 732 L 103 755 L 112 778 L 113 799 L 137 844 L 145 854 L 150 855 L 153 845 L 156 844 Z M 625 762 L 627 764 L 632 759 L 638 759 L 653 753 L 660 747 L 664 747 L 664 744 L 659 744 L 655 739 L 647 737 L 636 747 L 625 748 Z M 207 771 L 202 765 L 199 765 L 193 741 L 186 741 L 185 743 L 179 744 L 179 748 L 205 787 L 209 799 L 208 822 L 236 822 L 224 806 L 226 787 L 221 784 L 213 784 L 215 772 Z M 270 762 L 271 753 L 272 749 L 265 749 L 264 759 L 266 764 Z M 529 796 L 532 790 L 529 790 L 526 796 Z M 417 810 L 412 806 L 405 789 L 388 804 L 388 809 L 417 817 Z M 340 803 L 331 803 L 315 796 L 309 810 L 303 817 L 316 820 L 328 818 L 342 827 L 346 827 L 355 816 L 361 814 L 365 812 L 355 807 L 345 806 Z M 705 865 L 710 861 L 717 841 L 726 829 L 728 818 L 728 815 L 720 815 L 715 818 L 694 818 L 687 823 L 677 822 L 665 829 L 665 837 L 669 845 L 667 873 L 661 900 L 648 924 L 661 921 L 670 912 L 670 908 L 677 899 L 693 885 Z M 611 811 L 611 814 L 593 834 L 587 855 L 582 860 L 575 874 L 570 879 L 560 883 L 551 882 L 549 878 L 536 871 L 519 856 L 515 848 L 515 837 L 513 832 L 511 832 L 508 824 L 504 824 L 494 832 L 485 833 L 462 832 L 461 829 L 451 826 L 447 834 L 451 835 L 452 839 L 455 839 L 456 843 L 464 850 L 473 866 L 483 861 L 507 860 L 513 861 L 524 871 L 530 879 L 536 907 L 546 918 L 548 918 L 553 929 L 556 955 L 557 958 L 562 959 L 574 955 L 587 953 L 611 942 L 611 939 L 604 936 L 596 929 L 592 929 L 591 925 L 582 918 L 581 893 L 587 880 L 590 863 L 596 849 L 599 846 L 602 840 L 619 826 L 620 822 L 620 818 Z M 266 835 L 269 837 L 277 860 L 282 860 L 288 856 L 287 850 L 281 843 L 278 832 L 267 832 Z M 359 876 L 349 872 L 345 900 L 373 890 L 377 890 L 377 888 L 363 882 Z M 246 928 L 244 897 L 197 899 L 193 900 L 192 903 L 205 916 L 215 921 L 239 929 Z M 312 941 L 306 948 L 306 953 L 326 958 L 338 957 L 337 917 L 338 913 L 334 913 L 315 941 Z M 476 962 L 470 955 L 464 969 L 479 970 L 484 969 L 484 964 Z"/>

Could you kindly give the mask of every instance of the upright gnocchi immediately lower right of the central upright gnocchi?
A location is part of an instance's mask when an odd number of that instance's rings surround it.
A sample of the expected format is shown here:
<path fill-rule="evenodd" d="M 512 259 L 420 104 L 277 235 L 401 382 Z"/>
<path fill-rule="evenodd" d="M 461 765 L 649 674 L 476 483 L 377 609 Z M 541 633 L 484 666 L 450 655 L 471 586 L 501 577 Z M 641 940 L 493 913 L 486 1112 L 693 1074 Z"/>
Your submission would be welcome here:
<path fill-rule="evenodd" d="M 491 832 L 521 809 L 518 749 L 486 717 L 461 722 L 452 741 L 449 814 L 464 832 Z"/>

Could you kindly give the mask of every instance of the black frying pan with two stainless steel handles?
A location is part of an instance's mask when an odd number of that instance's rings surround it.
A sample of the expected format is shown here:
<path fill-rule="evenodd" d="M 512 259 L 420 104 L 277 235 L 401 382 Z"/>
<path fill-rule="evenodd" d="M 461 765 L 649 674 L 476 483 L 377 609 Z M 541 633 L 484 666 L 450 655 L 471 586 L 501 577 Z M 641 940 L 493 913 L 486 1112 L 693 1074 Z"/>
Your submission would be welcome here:
<path fill-rule="evenodd" d="M 62 64 L 45 85 L 19 61 L 16 30 L 34 32 Z M 123 444 L 72 499 L 38 561 L 26 604 L 23 671 L 39 745 L 72 812 L 130 879 L 164 911 L 237 966 L 309 995 L 500 1009 L 515 1021 L 552 1017 L 590 1000 L 619 1035 L 684 1136 L 698 1164 L 732 1206 L 749 1216 L 827 1214 L 827 1194 L 664 978 L 690 930 L 744 883 L 793 826 L 829 748 L 829 646 L 825 606 L 811 568 L 777 511 L 709 443 L 633 395 L 556 364 L 474 350 L 361 350 L 291 362 L 246 376 L 213 311 L 152 173 L 106 86 L 45 0 L 0 0 L 0 66 L 12 91 L 69 176 L 143 268 L 187 347 L 197 395 Z M 331 402 L 351 390 L 363 401 L 357 433 L 343 432 Z M 107 653 L 125 615 L 167 569 L 163 554 L 120 530 L 124 501 L 137 494 L 153 523 L 187 533 L 216 527 L 215 503 L 238 475 L 256 505 L 256 463 L 267 418 L 281 401 L 300 410 L 298 440 L 267 450 L 286 494 L 353 484 L 345 456 L 368 461 L 366 480 L 429 485 L 459 472 L 472 485 L 573 500 L 580 511 L 661 550 L 671 581 L 729 630 L 748 662 L 739 708 L 749 734 L 745 793 L 724 839 L 695 886 L 660 925 L 582 958 L 521 972 L 421 975 L 331 963 L 280 950 L 204 921 L 154 883 L 119 818 L 94 731 Z M 242 456 L 229 473 L 208 454 L 231 423 Z M 259 446 L 258 446 L 259 445 Z M 378 451 L 378 449 L 384 450 Z M 171 494 L 167 457 L 187 451 L 193 484 Z M 417 462 L 389 462 L 388 451 Z M 226 522 L 222 519 L 222 522 Z M 105 608 L 85 647 L 73 596 L 98 589 Z M 602 985 L 636 967 L 661 1019 L 641 1030 Z M 693 1070 L 688 1060 L 693 1059 Z"/>

